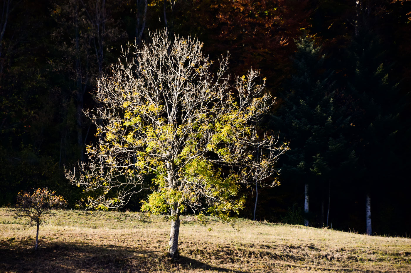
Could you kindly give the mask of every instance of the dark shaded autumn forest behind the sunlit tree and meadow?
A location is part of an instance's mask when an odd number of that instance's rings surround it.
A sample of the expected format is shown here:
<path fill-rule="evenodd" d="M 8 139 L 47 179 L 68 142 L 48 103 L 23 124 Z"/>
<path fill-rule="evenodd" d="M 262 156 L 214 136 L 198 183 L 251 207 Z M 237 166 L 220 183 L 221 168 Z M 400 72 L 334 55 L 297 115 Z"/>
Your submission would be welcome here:
<path fill-rule="evenodd" d="M 0 9 L 0 205 L 40 187 L 76 205 L 82 192 L 64 166 L 96 141 L 83 109 L 95 106 L 97 78 L 122 46 L 167 27 L 198 37 L 211 59 L 229 50 L 236 75 L 260 68 L 277 96 L 259 126 L 291 150 L 281 186 L 259 189 L 257 219 L 411 232 L 411 1 L 2 0 Z M 254 201 L 255 191 L 242 216 Z"/>

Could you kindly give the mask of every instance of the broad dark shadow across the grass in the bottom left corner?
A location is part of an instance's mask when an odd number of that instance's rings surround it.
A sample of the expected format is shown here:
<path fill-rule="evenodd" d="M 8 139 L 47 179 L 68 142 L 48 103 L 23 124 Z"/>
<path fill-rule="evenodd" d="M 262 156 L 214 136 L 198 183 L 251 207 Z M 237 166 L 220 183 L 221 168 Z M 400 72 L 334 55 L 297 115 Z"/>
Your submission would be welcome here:
<path fill-rule="evenodd" d="M 203 269 L 242 273 L 184 256 L 174 261 L 161 250 L 48 241 L 34 251 L 32 243 L 32 238 L 0 241 L 0 272 L 195 272 Z"/>

